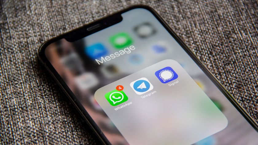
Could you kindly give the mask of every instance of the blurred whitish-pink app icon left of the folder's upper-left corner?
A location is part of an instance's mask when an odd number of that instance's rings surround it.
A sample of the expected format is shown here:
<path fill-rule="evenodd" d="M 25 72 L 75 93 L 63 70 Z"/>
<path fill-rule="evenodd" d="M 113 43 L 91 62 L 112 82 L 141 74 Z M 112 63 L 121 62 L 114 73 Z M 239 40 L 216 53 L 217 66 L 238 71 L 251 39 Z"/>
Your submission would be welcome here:
<path fill-rule="evenodd" d="M 75 83 L 79 89 L 86 90 L 95 87 L 99 83 L 99 80 L 92 72 L 85 72 L 75 78 Z"/>

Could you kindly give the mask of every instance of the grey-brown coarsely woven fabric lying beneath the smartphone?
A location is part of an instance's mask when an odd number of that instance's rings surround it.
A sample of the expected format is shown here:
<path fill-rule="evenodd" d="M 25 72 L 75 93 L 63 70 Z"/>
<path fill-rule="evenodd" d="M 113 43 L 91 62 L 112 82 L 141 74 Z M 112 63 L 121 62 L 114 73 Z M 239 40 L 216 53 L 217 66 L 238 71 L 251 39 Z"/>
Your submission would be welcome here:
<path fill-rule="evenodd" d="M 1 143 L 100 143 L 40 65 L 37 50 L 51 37 L 136 3 L 156 9 L 258 121 L 257 1 L 4 1 Z"/>

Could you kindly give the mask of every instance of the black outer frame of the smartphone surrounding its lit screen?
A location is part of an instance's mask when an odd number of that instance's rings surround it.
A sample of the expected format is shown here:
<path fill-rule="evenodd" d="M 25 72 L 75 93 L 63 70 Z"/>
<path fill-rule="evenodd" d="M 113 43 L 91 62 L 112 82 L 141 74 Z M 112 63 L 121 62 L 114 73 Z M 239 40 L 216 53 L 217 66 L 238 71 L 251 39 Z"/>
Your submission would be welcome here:
<path fill-rule="evenodd" d="M 174 32 L 173 29 L 169 26 L 169 24 L 150 6 L 146 5 L 133 5 L 129 6 L 125 9 L 119 10 L 113 14 L 107 15 L 103 18 L 100 18 L 98 20 L 95 20 L 91 23 L 85 24 L 81 27 L 78 27 L 76 29 L 72 29 L 71 31 L 68 31 L 64 34 L 61 34 L 57 37 L 54 37 L 52 39 L 49 39 L 48 41 L 45 41 L 38 51 L 38 57 L 40 61 L 43 63 L 45 68 L 49 71 L 49 73 L 53 76 L 53 78 L 57 81 L 57 83 L 62 88 L 63 92 L 68 96 L 68 98 L 72 101 L 72 103 L 76 106 L 80 114 L 83 116 L 84 120 L 88 122 L 88 124 L 92 127 L 93 131 L 96 133 L 96 135 L 100 138 L 101 142 L 104 144 L 111 144 L 108 139 L 105 137 L 103 132 L 100 130 L 100 128 L 97 126 L 97 124 L 94 122 L 94 120 L 91 118 L 91 116 L 88 114 L 87 110 L 80 104 L 80 102 L 77 100 L 76 96 L 72 93 L 72 91 L 69 89 L 69 87 L 66 85 L 64 80 L 61 78 L 61 76 L 57 73 L 57 71 L 54 69 L 54 67 L 51 65 L 47 57 L 45 56 L 45 49 L 46 47 L 62 38 L 66 38 L 67 36 L 71 35 L 74 32 L 79 32 L 80 30 L 87 29 L 88 27 L 91 27 L 92 25 L 96 25 L 100 22 L 103 22 L 104 19 L 110 18 L 114 15 L 122 14 L 124 12 L 127 12 L 132 9 L 137 8 L 143 8 L 146 10 L 149 10 L 155 18 L 158 19 L 158 21 L 166 28 L 166 30 L 170 33 L 172 37 L 179 43 L 179 45 L 186 51 L 186 53 L 193 59 L 193 61 L 202 69 L 202 71 L 209 77 L 209 79 L 217 86 L 217 88 L 224 94 L 224 96 L 233 104 L 233 106 L 241 113 L 241 115 L 254 127 L 256 131 L 258 131 L 258 124 L 255 122 L 255 120 L 252 119 L 252 117 L 242 108 L 242 106 L 236 101 L 236 99 L 226 90 L 226 88 L 217 80 L 215 76 L 209 71 L 209 69 L 206 68 L 206 66 L 201 62 L 201 60 L 198 59 L 198 57 L 192 52 L 192 50 L 185 44 L 185 42 Z M 100 29 L 101 30 L 101 29 Z M 100 31 L 98 30 L 98 31 Z M 94 32 L 95 33 L 95 32 Z M 89 34 L 90 35 L 90 34 Z"/>

